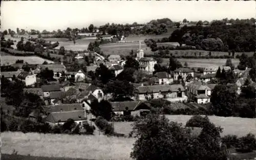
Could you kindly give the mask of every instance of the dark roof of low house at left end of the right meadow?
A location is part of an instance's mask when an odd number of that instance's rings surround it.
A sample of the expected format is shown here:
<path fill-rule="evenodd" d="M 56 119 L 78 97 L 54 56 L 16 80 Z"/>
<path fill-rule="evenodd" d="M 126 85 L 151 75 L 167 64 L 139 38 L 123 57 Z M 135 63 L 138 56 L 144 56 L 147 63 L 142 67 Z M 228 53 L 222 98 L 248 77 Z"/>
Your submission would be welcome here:
<path fill-rule="evenodd" d="M 114 112 L 125 111 L 126 107 L 129 111 L 134 111 L 137 108 L 137 106 L 139 106 L 141 103 L 141 101 L 110 102 Z M 150 109 L 150 107 L 148 107 L 148 109 Z"/>

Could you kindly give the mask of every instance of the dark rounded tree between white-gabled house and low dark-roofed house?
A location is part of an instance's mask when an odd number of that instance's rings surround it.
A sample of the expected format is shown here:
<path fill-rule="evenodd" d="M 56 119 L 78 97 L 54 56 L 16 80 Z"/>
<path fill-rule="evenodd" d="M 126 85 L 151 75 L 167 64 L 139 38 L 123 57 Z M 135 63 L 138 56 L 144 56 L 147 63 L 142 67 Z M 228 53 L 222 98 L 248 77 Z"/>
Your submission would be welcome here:
<path fill-rule="evenodd" d="M 110 102 L 106 100 L 94 100 L 91 103 L 91 112 L 96 117 L 103 117 L 106 120 L 110 120 L 113 114 L 112 106 Z"/>

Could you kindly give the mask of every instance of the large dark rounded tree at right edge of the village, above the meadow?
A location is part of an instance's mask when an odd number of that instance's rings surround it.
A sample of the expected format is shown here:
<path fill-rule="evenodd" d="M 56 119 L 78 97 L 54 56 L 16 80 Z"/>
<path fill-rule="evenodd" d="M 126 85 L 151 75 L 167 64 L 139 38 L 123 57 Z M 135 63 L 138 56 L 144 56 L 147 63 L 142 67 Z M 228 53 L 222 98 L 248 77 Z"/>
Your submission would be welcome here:
<path fill-rule="evenodd" d="M 217 85 L 212 90 L 210 101 L 211 110 L 216 116 L 231 116 L 234 113 L 237 99 L 237 92 L 233 88 L 227 88 L 226 85 Z"/>

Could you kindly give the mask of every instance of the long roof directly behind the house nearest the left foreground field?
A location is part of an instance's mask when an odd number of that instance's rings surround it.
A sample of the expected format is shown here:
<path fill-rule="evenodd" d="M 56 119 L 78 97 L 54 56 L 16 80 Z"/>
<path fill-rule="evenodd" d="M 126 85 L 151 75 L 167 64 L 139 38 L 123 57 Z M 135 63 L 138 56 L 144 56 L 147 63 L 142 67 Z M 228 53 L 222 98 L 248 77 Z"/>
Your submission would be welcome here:
<path fill-rule="evenodd" d="M 46 105 L 42 106 L 42 109 L 46 113 L 52 112 L 69 112 L 69 111 L 82 111 L 81 103 L 72 103 L 72 104 L 58 104 L 58 105 Z"/>

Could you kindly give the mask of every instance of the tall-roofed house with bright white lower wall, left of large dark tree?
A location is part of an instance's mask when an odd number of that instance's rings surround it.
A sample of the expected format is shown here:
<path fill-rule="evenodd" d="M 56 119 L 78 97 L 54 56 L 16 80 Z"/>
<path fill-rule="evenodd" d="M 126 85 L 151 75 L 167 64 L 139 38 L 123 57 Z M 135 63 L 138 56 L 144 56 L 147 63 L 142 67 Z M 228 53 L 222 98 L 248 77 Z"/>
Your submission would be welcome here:
<path fill-rule="evenodd" d="M 202 82 L 195 81 L 186 86 L 187 96 L 195 97 L 197 103 L 210 102 L 211 89 Z"/>

